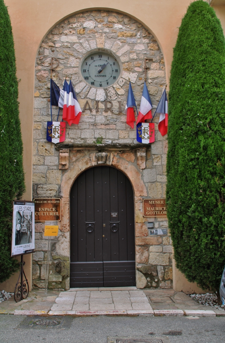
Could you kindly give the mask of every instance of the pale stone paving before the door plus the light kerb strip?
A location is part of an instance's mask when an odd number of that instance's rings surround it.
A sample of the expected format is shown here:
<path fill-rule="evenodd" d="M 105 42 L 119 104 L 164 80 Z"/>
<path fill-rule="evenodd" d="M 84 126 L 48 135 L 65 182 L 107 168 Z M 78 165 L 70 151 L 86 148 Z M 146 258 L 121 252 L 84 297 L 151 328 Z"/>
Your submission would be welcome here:
<path fill-rule="evenodd" d="M 14 315 L 81 316 L 223 316 L 222 311 L 152 309 L 143 290 L 136 287 L 71 288 L 61 292 L 50 310 L 15 310 Z"/>

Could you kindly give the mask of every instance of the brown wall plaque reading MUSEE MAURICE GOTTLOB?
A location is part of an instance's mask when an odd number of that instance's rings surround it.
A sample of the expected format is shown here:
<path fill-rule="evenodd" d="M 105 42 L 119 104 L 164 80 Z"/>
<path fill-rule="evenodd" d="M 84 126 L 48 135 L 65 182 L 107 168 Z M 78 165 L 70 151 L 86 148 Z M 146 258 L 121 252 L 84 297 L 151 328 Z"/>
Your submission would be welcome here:
<path fill-rule="evenodd" d="M 144 217 L 166 217 L 165 199 L 143 199 Z"/>

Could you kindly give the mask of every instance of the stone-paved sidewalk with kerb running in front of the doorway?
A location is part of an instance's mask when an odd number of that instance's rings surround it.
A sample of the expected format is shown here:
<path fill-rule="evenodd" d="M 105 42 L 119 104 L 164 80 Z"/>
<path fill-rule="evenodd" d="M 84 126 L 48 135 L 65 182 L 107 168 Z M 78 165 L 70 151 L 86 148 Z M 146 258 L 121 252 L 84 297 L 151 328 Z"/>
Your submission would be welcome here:
<path fill-rule="evenodd" d="M 198 304 L 173 289 L 136 287 L 71 288 L 69 291 L 31 291 L 27 299 L 0 304 L 0 314 L 139 316 L 225 316 L 225 311 Z"/>

